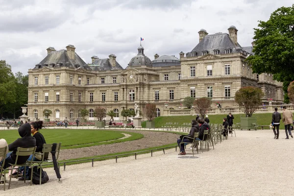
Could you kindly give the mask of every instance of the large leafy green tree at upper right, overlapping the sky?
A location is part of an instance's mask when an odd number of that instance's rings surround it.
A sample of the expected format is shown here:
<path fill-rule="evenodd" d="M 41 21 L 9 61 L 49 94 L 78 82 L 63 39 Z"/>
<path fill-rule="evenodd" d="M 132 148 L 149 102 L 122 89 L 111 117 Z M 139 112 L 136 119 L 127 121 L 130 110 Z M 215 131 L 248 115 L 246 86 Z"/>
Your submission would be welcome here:
<path fill-rule="evenodd" d="M 267 22 L 259 21 L 254 28 L 252 56 L 247 62 L 253 73 L 272 73 L 273 79 L 283 82 L 284 101 L 289 102 L 287 89 L 294 80 L 294 4 L 275 10 Z"/>

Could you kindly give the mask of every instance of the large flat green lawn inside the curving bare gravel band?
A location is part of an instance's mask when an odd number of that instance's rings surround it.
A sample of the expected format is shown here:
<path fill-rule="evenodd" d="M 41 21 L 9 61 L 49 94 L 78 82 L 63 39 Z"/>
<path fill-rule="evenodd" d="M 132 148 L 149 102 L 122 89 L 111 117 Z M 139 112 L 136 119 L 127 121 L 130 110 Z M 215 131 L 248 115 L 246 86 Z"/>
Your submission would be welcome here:
<path fill-rule="evenodd" d="M 138 140 L 144 137 L 139 133 L 91 129 L 42 129 L 41 133 L 48 144 L 61 142 L 63 149 L 125 142 Z M 110 141 L 124 137 L 122 133 L 130 134 L 131 137 L 118 141 Z M 0 135 L 1 138 L 4 138 L 7 141 L 8 144 L 14 142 L 17 138 L 20 138 L 17 130 L 1 130 Z"/>

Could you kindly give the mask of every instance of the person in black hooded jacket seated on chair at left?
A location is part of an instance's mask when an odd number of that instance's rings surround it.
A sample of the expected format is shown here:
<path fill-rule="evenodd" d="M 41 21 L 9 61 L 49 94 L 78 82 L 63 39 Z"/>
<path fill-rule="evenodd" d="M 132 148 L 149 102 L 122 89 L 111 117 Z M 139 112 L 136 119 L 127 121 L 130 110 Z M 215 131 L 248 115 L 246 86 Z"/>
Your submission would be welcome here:
<path fill-rule="evenodd" d="M 16 151 L 18 147 L 35 147 L 36 139 L 31 136 L 31 126 L 29 123 L 25 123 L 19 127 L 18 132 L 22 138 L 18 138 L 16 141 L 8 145 L 8 150 L 12 151 L 7 154 L 5 158 L 4 169 L 10 167 L 9 163 L 14 164 L 16 160 Z M 17 164 L 23 164 L 29 156 L 19 156 Z M 3 162 L 0 162 L 2 165 Z"/>

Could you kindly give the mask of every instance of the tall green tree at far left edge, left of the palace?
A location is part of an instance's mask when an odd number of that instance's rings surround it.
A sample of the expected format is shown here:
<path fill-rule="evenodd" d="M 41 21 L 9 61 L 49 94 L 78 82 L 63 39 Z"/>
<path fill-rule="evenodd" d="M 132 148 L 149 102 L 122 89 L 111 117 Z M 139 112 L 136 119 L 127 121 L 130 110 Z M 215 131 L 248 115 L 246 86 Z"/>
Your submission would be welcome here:
<path fill-rule="evenodd" d="M 16 84 L 11 66 L 0 60 L 0 118 L 2 118 L 5 105 L 16 102 Z"/>

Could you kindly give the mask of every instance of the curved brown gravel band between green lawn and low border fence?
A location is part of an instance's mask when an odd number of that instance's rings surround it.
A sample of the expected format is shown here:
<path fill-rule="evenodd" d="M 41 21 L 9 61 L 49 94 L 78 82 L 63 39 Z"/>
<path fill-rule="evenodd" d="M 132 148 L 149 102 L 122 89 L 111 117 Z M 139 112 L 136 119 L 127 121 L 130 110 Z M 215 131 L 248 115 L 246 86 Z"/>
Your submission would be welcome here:
<path fill-rule="evenodd" d="M 124 152 L 130 150 L 144 149 L 148 147 L 156 147 L 175 143 L 179 135 L 174 133 L 156 132 L 156 131 L 135 131 L 126 130 L 127 132 L 141 133 L 144 138 L 127 142 L 120 142 L 107 145 L 99 145 L 93 147 L 82 147 L 73 149 L 62 149 L 60 151 L 59 160 L 67 160 L 74 158 L 91 157 L 116 152 Z"/>

